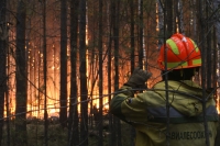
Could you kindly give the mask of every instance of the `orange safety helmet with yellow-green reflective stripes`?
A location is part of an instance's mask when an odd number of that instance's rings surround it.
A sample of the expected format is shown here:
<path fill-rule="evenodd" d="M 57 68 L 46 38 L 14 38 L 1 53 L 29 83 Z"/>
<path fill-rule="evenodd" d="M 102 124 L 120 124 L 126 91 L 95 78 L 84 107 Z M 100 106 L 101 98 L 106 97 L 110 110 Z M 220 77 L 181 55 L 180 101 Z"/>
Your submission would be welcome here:
<path fill-rule="evenodd" d="M 157 59 L 158 66 L 165 70 L 165 54 L 164 46 L 161 47 Z M 167 70 L 183 69 L 201 66 L 200 50 L 196 43 L 183 34 L 176 33 L 166 41 L 167 48 Z"/>

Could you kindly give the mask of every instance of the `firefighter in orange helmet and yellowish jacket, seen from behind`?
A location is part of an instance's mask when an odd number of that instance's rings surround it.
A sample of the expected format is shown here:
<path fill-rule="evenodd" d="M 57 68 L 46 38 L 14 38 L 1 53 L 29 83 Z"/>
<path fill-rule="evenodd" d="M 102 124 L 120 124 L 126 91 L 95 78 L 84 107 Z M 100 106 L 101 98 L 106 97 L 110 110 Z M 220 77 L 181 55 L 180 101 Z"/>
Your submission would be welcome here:
<path fill-rule="evenodd" d="M 162 81 L 151 90 L 138 92 L 152 74 L 134 69 L 112 98 L 110 113 L 135 127 L 135 146 L 207 146 L 208 143 L 215 146 L 218 112 L 213 94 L 211 91 L 205 94 L 207 122 L 204 122 L 202 89 L 191 80 L 201 66 L 195 42 L 179 33 L 172 35 L 166 46 L 162 46 L 157 63 Z"/>

